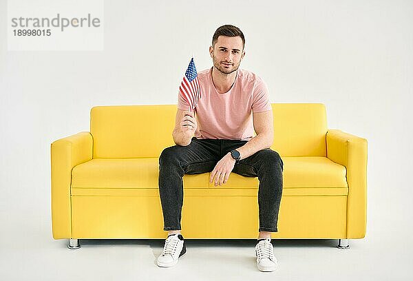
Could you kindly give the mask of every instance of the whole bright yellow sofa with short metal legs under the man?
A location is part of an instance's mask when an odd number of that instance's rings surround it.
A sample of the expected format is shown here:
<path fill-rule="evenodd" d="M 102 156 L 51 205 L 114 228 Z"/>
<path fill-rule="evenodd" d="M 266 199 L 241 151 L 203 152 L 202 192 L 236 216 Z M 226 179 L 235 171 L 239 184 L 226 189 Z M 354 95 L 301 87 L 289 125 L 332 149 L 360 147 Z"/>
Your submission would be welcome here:
<path fill-rule="evenodd" d="M 367 141 L 327 129 L 322 103 L 273 103 L 274 143 L 284 162 L 273 238 L 348 239 L 366 234 Z M 160 238 L 158 157 L 173 143 L 176 105 L 96 106 L 90 132 L 51 144 L 54 239 Z M 232 173 L 215 187 L 185 175 L 182 235 L 257 238 L 257 178 Z"/>

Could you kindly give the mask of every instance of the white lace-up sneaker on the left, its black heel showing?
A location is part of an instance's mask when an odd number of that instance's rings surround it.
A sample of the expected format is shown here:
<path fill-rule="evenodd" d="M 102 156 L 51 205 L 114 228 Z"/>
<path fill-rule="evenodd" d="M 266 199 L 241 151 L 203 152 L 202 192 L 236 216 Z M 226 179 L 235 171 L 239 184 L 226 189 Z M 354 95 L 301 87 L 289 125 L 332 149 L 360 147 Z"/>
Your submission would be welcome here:
<path fill-rule="evenodd" d="M 170 234 L 156 262 L 159 267 L 173 267 L 178 264 L 178 258 L 186 252 L 187 247 L 185 247 L 183 236 L 180 233 Z"/>

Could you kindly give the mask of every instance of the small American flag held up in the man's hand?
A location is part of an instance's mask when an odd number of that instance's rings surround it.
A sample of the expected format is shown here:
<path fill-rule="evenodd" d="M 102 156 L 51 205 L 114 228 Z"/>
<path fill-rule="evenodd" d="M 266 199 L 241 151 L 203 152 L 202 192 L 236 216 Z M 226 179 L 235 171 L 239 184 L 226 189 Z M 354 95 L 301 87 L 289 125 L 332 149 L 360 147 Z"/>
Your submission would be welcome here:
<path fill-rule="evenodd" d="M 194 110 L 201 98 L 201 88 L 193 58 L 189 62 L 187 72 L 185 72 L 179 90 L 182 96 L 184 96 L 185 101 L 189 104 L 189 111 Z"/>

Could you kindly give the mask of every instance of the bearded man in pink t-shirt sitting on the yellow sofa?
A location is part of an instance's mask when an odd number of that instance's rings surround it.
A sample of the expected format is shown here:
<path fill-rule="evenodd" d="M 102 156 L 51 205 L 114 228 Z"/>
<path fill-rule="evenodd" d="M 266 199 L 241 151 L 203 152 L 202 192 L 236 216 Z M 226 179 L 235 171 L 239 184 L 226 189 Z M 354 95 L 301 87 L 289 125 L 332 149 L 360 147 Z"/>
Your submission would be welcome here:
<path fill-rule="evenodd" d="M 159 158 L 159 192 L 164 230 L 169 231 L 158 266 L 171 267 L 187 250 L 180 220 L 183 203 L 182 176 L 211 172 L 214 185 L 226 183 L 231 171 L 260 180 L 258 205 L 260 228 L 255 254 L 257 267 L 273 271 L 271 232 L 277 232 L 282 197 L 284 163 L 269 147 L 273 144 L 273 111 L 268 88 L 260 77 L 238 69 L 244 58 L 245 39 L 233 25 L 213 34 L 209 53 L 213 67 L 198 72 L 202 98 L 196 118 L 182 94 L 178 95 L 173 147 Z M 252 119 L 251 119 L 252 112 Z M 257 136 L 253 137 L 253 130 Z"/>

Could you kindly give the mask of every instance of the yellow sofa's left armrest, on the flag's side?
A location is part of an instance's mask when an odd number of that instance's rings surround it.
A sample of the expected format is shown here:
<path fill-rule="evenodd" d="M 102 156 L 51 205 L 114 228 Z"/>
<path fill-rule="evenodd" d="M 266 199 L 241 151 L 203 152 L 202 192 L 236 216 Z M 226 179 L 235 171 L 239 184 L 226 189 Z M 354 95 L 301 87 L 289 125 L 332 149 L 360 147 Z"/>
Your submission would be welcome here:
<path fill-rule="evenodd" d="M 50 145 L 52 232 L 54 239 L 72 238 L 70 185 L 74 166 L 92 159 L 93 138 L 80 132 Z"/>

